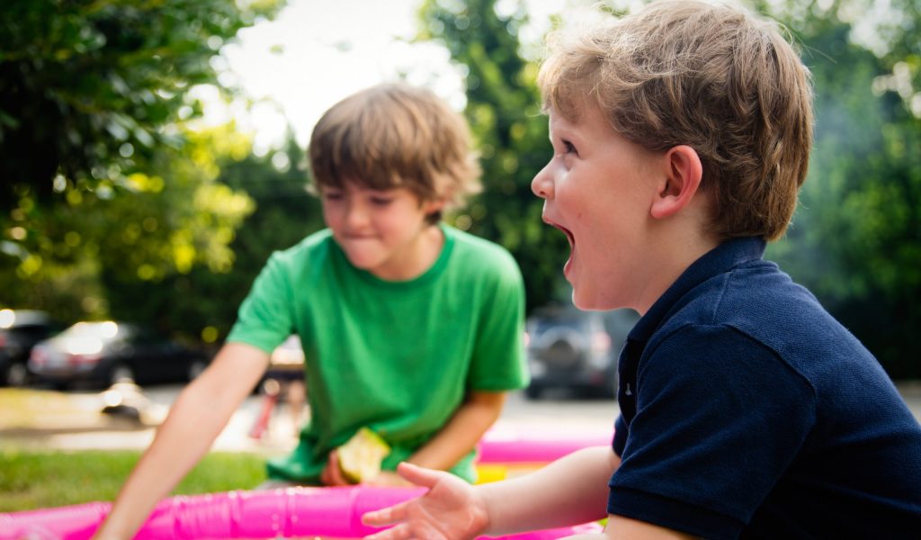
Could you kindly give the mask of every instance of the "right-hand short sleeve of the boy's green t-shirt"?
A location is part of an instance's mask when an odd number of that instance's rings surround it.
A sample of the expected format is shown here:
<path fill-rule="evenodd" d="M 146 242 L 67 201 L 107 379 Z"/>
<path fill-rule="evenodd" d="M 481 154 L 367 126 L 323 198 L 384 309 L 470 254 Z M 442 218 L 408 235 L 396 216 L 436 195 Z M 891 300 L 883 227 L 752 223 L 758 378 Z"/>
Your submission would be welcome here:
<path fill-rule="evenodd" d="M 495 257 L 481 302 L 468 378 L 472 390 L 518 390 L 530 381 L 524 358 L 524 280 L 507 252 Z"/>

